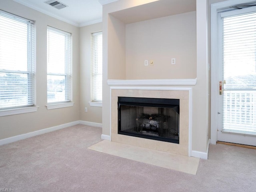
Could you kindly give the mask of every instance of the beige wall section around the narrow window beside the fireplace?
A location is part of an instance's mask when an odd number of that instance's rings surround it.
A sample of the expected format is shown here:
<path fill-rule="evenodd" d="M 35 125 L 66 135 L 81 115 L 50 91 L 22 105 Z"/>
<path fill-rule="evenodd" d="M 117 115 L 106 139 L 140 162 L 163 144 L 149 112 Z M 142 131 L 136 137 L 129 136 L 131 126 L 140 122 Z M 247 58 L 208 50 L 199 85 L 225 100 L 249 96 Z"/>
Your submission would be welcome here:
<path fill-rule="evenodd" d="M 102 107 L 90 106 L 91 34 L 102 31 L 102 23 L 80 27 L 80 120 L 102 123 Z M 84 112 L 87 107 L 87 112 Z"/>

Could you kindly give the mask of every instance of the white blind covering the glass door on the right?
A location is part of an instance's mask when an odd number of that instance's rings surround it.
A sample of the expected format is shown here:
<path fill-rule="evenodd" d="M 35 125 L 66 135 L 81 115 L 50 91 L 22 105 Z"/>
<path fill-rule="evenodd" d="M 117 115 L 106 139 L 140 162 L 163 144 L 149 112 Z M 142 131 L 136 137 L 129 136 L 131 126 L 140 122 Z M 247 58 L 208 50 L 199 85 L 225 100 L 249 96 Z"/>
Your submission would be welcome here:
<path fill-rule="evenodd" d="M 221 16 L 223 130 L 256 134 L 256 12 Z"/>

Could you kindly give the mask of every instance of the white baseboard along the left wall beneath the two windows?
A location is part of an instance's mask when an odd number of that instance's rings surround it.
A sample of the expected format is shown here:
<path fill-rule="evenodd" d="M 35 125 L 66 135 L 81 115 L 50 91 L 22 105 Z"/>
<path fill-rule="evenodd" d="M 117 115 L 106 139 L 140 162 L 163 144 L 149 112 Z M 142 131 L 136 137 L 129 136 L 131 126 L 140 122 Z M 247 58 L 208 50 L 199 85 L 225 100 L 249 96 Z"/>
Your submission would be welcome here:
<path fill-rule="evenodd" d="M 17 135 L 17 136 L 5 138 L 5 139 L 0 140 L 0 145 L 16 142 L 16 141 L 27 139 L 27 138 L 30 138 L 30 137 L 34 137 L 34 136 L 37 136 L 37 135 L 41 135 L 41 134 L 49 133 L 49 132 L 56 131 L 56 130 L 59 130 L 59 129 L 67 128 L 67 127 L 70 127 L 70 126 L 77 125 L 79 123 L 80 123 L 80 121 L 74 121 L 74 122 L 70 122 L 70 123 L 66 123 L 66 124 L 62 124 L 62 125 L 58 125 L 58 126 L 54 126 L 54 127 L 50 127 L 50 128 L 46 128 L 46 129 L 42 129 L 42 130 L 38 130 L 38 131 L 26 133 L 26 134 L 22 134 L 22 135 Z"/>

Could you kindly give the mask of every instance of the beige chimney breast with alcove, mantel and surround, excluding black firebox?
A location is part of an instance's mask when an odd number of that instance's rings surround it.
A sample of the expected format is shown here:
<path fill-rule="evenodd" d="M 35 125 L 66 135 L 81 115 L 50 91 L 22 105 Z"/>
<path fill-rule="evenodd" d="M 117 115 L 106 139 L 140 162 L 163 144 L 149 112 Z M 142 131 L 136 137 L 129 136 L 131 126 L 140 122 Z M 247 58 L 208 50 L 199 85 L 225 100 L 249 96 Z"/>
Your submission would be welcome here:
<path fill-rule="evenodd" d="M 102 138 L 124 142 L 130 137 L 127 144 L 207 158 L 207 6 L 200 0 L 118 0 L 103 6 Z M 155 92 L 159 98 L 181 93 L 180 122 L 188 131 L 179 144 L 116 134 L 118 96 L 150 98 Z M 188 100 L 182 100 L 184 94 Z"/>

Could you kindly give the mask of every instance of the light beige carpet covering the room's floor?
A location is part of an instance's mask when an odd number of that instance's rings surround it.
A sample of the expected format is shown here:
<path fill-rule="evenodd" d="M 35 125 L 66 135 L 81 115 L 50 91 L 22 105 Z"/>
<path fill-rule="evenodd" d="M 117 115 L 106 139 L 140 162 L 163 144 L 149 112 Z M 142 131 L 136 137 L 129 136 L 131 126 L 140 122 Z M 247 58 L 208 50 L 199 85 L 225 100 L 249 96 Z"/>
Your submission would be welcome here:
<path fill-rule="evenodd" d="M 0 146 L 0 190 L 255 192 L 256 150 L 210 145 L 196 175 L 87 149 L 101 128 L 76 125 Z"/>

